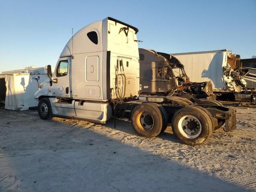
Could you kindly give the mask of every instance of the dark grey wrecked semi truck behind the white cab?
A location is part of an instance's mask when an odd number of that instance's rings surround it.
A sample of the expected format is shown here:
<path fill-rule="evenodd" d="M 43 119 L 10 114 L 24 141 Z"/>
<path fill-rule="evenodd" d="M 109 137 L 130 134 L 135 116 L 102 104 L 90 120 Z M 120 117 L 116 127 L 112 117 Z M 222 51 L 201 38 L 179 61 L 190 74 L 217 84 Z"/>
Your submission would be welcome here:
<path fill-rule="evenodd" d="M 139 55 L 141 95 L 166 94 L 189 99 L 192 99 L 191 96 L 216 98 L 212 92 L 212 83 L 190 82 L 184 65 L 176 57 L 142 48 L 139 48 Z"/>

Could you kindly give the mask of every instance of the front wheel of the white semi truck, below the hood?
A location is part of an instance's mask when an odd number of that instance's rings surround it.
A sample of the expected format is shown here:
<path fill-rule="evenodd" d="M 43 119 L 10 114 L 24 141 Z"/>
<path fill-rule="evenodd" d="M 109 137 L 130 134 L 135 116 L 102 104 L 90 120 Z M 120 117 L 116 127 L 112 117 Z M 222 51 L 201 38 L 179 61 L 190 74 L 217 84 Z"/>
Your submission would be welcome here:
<path fill-rule="evenodd" d="M 42 98 L 39 101 L 37 110 L 41 119 L 49 120 L 52 118 L 52 107 L 48 98 Z"/>

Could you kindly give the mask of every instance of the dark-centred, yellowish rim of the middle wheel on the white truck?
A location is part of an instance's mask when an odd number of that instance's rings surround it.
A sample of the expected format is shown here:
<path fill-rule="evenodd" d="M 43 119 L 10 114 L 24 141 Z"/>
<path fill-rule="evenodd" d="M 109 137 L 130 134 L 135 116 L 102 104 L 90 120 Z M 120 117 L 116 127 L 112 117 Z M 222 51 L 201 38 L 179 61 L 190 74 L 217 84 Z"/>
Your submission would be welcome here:
<path fill-rule="evenodd" d="M 136 117 L 138 127 L 143 131 L 150 131 L 154 126 L 154 119 L 149 112 L 140 112 Z"/>

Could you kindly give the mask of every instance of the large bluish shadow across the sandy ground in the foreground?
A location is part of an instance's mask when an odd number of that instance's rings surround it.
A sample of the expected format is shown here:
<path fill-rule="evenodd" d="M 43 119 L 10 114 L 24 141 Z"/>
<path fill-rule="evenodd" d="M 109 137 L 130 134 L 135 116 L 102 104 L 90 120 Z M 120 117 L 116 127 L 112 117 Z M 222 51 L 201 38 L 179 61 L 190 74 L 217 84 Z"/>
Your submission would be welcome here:
<path fill-rule="evenodd" d="M 114 129 L 112 122 L 72 126 L 31 112 L 0 109 L 0 116 L 1 191 L 246 191 L 172 160 L 174 154 L 167 159 L 134 146 L 141 138 L 130 137 L 129 122 Z"/>

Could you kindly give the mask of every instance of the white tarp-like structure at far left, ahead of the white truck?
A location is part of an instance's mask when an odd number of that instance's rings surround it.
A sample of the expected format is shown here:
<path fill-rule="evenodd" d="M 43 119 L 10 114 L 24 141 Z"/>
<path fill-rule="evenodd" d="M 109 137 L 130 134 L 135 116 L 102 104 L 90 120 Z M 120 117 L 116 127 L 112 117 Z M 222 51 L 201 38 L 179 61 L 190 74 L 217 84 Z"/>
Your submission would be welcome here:
<path fill-rule="evenodd" d="M 5 109 L 28 110 L 29 107 L 38 105 L 38 101 L 34 99 L 34 94 L 38 90 L 35 76 L 39 76 L 38 82 L 42 83 L 48 78 L 46 68 L 26 68 L 0 74 L 0 78 L 5 80 L 5 87 L 4 84 L 0 85 L 0 92 L 6 89 L 5 100 L 2 98 Z"/>

